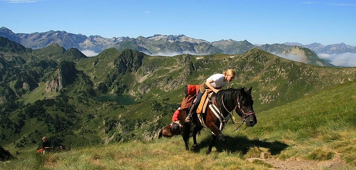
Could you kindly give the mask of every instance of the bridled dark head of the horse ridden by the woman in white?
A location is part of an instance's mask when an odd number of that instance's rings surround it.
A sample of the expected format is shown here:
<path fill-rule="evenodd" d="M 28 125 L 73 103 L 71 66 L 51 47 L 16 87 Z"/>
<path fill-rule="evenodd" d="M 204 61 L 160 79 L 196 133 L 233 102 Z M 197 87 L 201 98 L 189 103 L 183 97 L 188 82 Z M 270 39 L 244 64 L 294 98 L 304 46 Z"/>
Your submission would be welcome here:
<path fill-rule="evenodd" d="M 237 97 L 237 104 L 235 111 L 246 122 L 247 126 L 254 126 L 257 123 L 255 112 L 253 111 L 253 99 L 251 96 L 252 87 L 245 90 L 244 87 L 240 89 Z"/>

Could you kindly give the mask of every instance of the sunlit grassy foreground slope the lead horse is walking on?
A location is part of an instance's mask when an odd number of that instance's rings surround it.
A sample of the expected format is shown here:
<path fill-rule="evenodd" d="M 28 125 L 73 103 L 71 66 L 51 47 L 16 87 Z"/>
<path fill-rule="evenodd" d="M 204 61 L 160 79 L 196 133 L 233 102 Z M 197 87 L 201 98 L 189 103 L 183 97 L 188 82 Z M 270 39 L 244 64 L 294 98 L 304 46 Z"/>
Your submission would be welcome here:
<path fill-rule="evenodd" d="M 267 169 L 276 167 L 272 163 L 276 161 L 293 168 L 293 160 L 310 160 L 313 166 L 306 164 L 305 168 L 353 169 L 356 167 L 355 98 L 356 82 L 351 81 L 257 111 L 258 123 L 254 127 L 232 132 L 235 126 L 230 122 L 223 131 L 228 153 L 217 144 L 206 155 L 211 133 L 203 129 L 196 153 L 185 151 L 182 137 L 175 136 L 75 147 L 45 155 L 31 150 L 16 155 L 18 159 L 1 162 L 0 168 Z M 335 163 L 337 160 L 341 163 Z"/>

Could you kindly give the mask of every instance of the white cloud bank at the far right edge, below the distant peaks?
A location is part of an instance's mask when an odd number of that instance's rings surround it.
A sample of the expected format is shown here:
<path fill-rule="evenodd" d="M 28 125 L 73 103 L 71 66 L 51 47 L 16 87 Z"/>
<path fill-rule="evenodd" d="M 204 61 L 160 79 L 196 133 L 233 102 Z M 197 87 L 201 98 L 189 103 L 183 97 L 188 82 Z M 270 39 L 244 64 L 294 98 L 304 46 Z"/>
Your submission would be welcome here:
<path fill-rule="evenodd" d="M 356 53 L 318 53 L 318 56 L 337 66 L 356 66 Z"/>

